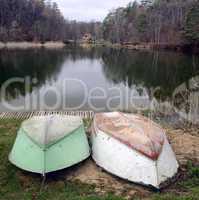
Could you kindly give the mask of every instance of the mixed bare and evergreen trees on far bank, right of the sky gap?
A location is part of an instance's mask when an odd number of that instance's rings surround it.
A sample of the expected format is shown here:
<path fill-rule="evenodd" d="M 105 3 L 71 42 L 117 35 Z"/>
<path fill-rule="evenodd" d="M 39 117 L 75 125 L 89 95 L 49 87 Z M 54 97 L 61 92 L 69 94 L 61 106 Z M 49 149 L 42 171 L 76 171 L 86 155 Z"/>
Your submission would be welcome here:
<path fill-rule="evenodd" d="M 103 37 L 112 43 L 198 43 L 198 0 L 142 0 L 110 12 Z"/>

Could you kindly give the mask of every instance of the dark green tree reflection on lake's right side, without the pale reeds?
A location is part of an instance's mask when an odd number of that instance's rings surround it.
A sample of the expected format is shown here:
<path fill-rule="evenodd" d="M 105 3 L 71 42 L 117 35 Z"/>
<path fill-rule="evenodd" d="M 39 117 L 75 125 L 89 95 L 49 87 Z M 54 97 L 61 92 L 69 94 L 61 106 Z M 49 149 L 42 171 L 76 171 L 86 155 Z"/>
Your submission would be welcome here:
<path fill-rule="evenodd" d="M 157 98 L 171 97 L 181 83 L 199 73 L 199 58 L 173 52 L 109 49 L 102 55 L 104 73 L 114 83 L 159 88 Z"/>

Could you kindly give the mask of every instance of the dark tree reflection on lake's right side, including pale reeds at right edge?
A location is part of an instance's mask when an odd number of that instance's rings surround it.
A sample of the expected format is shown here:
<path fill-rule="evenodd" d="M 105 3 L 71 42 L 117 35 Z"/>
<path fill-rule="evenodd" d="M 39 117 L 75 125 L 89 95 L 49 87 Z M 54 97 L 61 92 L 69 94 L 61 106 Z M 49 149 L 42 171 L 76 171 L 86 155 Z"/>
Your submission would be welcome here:
<path fill-rule="evenodd" d="M 183 118 L 199 123 L 199 57 L 108 49 L 102 58 L 109 80 L 129 87 L 142 85 L 158 101 L 159 109 L 172 107 Z"/>

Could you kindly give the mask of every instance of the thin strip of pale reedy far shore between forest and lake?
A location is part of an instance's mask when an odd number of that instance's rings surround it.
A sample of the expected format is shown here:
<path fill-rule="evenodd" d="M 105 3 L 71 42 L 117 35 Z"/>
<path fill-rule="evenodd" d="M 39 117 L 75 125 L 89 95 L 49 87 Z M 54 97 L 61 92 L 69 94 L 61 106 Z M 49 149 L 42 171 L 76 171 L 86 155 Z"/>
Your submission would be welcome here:
<path fill-rule="evenodd" d="M 116 49 L 129 49 L 129 50 L 172 50 L 177 52 L 188 52 L 188 53 L 199 53 L 199 45 L 192 46 L 190 44 L 167 44 L 167 43 L 110 43 L 107 41 L 103 42 L 74 42 L 70 41 L 64 43 L 62 41 L 49 41 L 45 43 L 41 42 L 0 42 L 0 49 L 35 49 L 35 48 L 46 48 L 46 49 L 61 49 L 68 44 L 78 44 L 83 48 L 92 48 L 96 46 L 104 46 Z"/>

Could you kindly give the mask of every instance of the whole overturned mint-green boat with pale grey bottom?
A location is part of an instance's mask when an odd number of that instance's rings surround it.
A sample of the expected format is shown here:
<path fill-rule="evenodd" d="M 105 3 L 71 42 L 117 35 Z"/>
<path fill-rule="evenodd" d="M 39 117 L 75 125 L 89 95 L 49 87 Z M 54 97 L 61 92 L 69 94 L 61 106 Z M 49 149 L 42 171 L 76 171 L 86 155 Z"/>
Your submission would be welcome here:
<path fill-rule="evenodd" d="M 70 167 L 89 156 L 82 119 L 55 115 L 24 121 L 9 160 L 23 170 L 45 174 Z"/>

